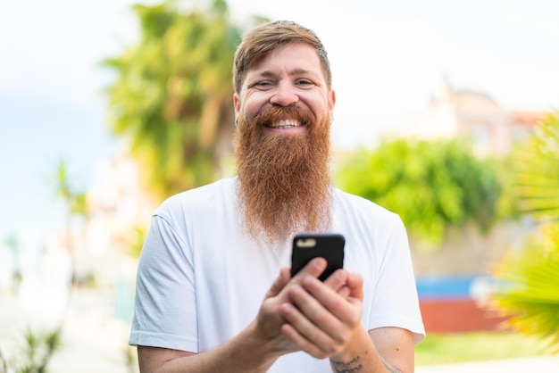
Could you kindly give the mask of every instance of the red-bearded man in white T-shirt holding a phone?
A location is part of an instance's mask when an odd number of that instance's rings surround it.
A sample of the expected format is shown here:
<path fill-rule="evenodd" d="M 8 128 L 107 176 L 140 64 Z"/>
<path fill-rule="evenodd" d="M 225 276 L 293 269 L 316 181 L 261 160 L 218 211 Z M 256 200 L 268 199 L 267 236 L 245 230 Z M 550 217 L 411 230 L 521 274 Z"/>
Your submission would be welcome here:
<path fill-rule="evenodd" d="M 405 228 L 331 187 L 330 62 L 313 31 L 259 26 L 235 55 L 237 178 L 155 211 L 129 343 L 142 372 L 411 372 L 424 336 Z M 298 231 L 346 236 L 345 269 L 291 278 Z"/>

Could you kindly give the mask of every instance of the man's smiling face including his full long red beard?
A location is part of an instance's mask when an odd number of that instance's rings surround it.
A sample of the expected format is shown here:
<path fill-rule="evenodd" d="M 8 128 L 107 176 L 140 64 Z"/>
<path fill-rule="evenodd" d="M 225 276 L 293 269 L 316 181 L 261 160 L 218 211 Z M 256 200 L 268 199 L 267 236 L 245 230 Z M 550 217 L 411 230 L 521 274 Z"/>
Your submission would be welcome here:
<path fill-rule="evenodd" d="M 330 223 L 334 93 L 312 46 L 285 46 L 248 70 L 235 95 L 240 199 L 246 227 L 270 242 Z"/>

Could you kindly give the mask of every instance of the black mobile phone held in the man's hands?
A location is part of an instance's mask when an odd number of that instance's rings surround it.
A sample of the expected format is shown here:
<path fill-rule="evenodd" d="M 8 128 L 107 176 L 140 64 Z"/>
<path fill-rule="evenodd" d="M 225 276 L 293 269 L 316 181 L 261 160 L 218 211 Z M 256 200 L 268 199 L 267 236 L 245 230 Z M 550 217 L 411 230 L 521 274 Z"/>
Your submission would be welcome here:
<path fill-rule="evenodd" d="M 319 277 L 324 281 L 336 269 L 344 268 L 344 245 L 346 238 L 338 233 L 296 234 L 291 252 L 291 277 L 313 258 L 322 257 L 328 261 L 328 266 Z"/>

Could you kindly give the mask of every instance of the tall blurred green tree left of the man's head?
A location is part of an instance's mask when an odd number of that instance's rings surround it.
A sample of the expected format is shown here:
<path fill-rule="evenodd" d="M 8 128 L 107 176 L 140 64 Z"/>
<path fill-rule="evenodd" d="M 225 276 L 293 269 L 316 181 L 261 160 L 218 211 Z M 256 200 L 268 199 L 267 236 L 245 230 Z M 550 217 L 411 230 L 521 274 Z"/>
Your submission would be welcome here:
<path fill-rule="evenodd" d="M 134 7 L 141 41 L 105 61 L 111 128 L 127 137 L 144 185 L 159 197 L 213 181 L 230 153 L 231 66 L 240 30 L 224 0 L 179 12 L 171 2 Z"/>

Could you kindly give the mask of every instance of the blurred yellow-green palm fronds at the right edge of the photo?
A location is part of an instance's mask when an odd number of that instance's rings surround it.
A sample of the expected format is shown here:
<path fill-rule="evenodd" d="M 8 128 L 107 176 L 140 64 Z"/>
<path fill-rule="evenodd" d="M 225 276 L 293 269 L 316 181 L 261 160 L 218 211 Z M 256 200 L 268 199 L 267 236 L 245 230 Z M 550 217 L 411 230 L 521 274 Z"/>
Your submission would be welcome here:
<path fill-rule="evenodd" d="M 542 120 L 516 165 L 520 209 L 537 227 L 500 263 L 496 304 L 513 327 L 559 352 L 559 112 Z"/>

